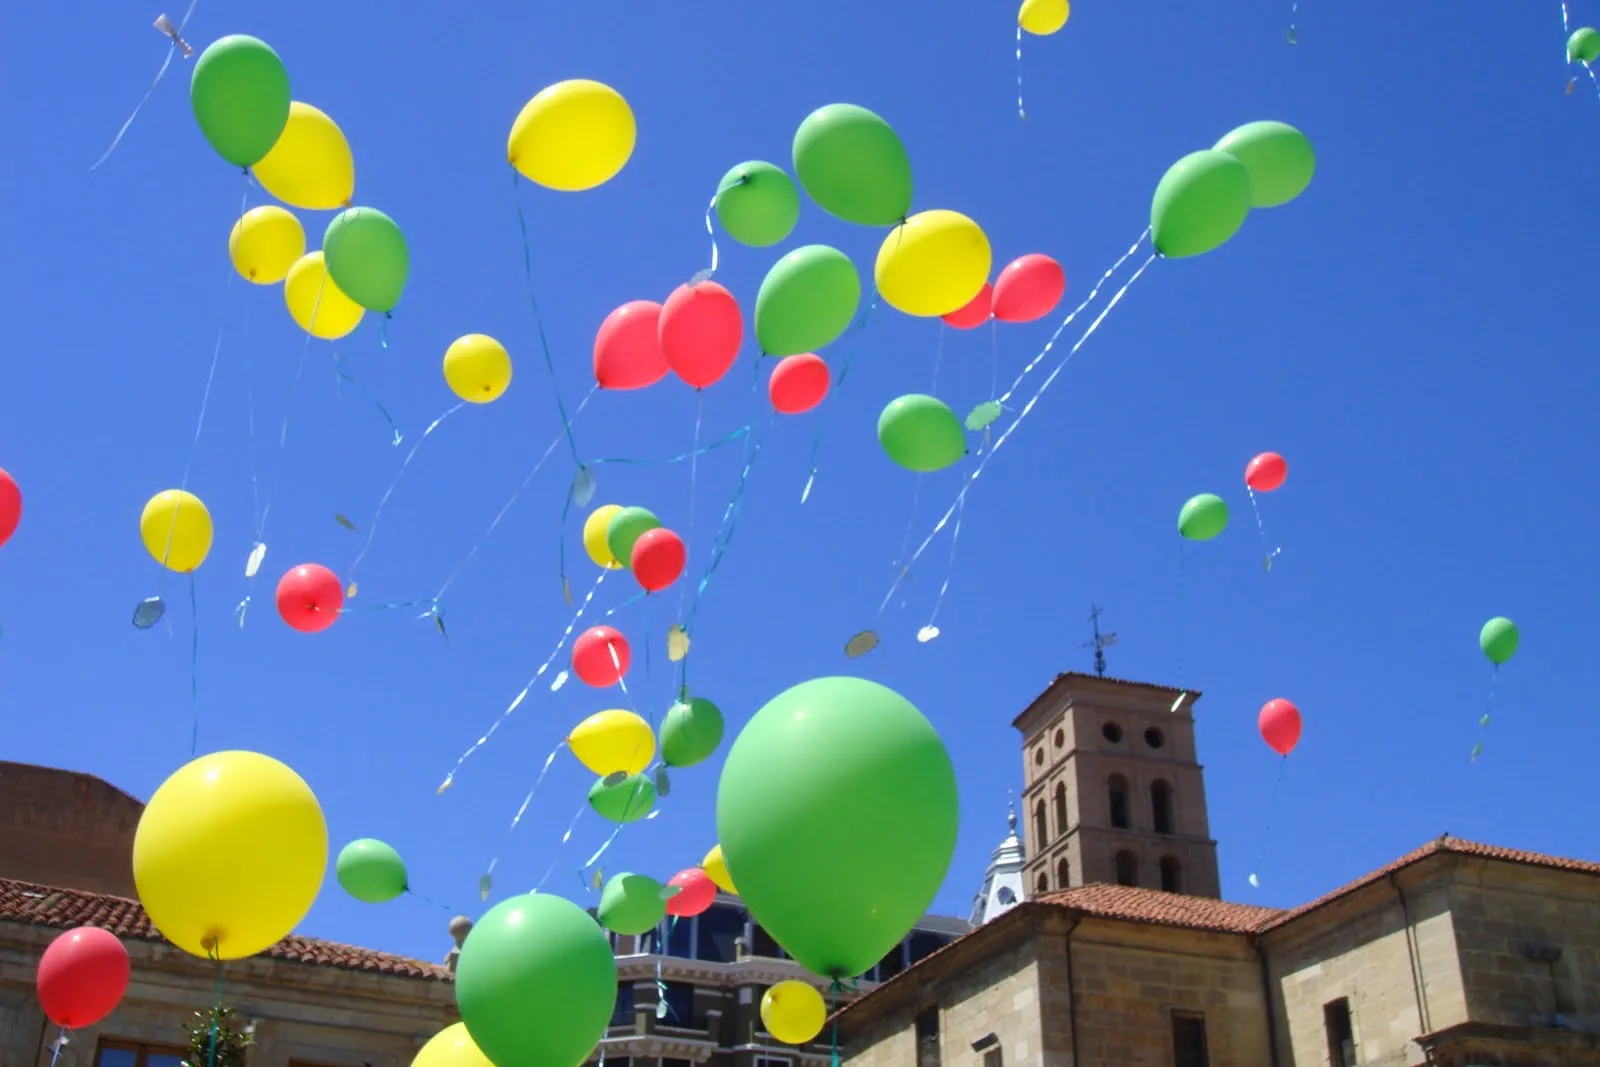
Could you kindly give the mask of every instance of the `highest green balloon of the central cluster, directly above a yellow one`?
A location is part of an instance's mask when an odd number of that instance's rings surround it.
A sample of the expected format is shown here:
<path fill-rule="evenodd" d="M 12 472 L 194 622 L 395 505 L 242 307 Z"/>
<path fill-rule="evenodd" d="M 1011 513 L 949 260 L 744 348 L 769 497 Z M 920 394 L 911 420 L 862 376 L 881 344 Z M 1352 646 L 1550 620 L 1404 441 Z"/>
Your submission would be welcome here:
<path fill-rule="evenodd" d="M 795 176 L 816 206 L 861 226 L 910 214 L 910 157 L 894 128 L 866 107 L 829 104 L 795 130 Z"/>

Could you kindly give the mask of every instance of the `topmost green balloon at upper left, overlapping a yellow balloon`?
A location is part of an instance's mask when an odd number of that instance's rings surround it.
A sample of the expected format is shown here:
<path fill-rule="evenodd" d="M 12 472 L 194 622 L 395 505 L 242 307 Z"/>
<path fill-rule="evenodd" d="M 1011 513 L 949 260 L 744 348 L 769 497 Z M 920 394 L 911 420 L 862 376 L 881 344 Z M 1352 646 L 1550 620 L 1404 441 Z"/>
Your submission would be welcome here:
<path fill-rule="evenodd" d="M 267 42 L 232 34 L 200 53 L 189 102 L 218 155 L 254 166 L 290 122 L 290 74 Z"/>

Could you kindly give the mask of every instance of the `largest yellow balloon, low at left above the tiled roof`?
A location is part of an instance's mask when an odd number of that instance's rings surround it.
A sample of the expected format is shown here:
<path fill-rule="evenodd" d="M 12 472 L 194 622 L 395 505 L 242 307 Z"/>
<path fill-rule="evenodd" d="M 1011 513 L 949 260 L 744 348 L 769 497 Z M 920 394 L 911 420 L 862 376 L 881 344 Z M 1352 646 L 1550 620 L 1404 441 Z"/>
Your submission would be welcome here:
<path fill-rule="evenodd" d="M 133 835 L 133 883 L 162 936 L 197 957 L 242 960 L 306 918 L 328 867 L 310 785 L 259 752 L 186 763 Z"/>

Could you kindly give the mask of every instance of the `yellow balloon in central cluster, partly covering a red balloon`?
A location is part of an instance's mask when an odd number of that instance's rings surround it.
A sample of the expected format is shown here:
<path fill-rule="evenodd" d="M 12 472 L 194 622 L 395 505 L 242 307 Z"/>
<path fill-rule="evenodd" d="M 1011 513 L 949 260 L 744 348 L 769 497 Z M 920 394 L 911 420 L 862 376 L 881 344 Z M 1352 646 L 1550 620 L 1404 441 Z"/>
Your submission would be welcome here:
<path fill-rule="evenodd" d="M 957 211 L 918 211 L 883 238 L 874 277 L 890 307 L 933 318 L 966 307 L 989 280 L 989 238 Z"/>

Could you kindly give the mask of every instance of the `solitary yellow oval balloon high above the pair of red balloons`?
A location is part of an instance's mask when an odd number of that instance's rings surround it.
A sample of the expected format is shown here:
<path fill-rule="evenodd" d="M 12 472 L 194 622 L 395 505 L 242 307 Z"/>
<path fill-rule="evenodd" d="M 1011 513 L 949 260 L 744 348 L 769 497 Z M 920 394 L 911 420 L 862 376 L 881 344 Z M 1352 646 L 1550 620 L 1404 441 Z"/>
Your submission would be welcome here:
<path fill-rule="evenodd" d="M 506 158 L 528 181 L 582 192 L 618 176 L 634 154 L 634 109 L 610 85 L 574 78 L 539 90 L 510 125 Z"/>

